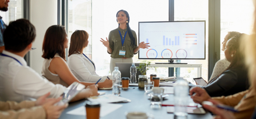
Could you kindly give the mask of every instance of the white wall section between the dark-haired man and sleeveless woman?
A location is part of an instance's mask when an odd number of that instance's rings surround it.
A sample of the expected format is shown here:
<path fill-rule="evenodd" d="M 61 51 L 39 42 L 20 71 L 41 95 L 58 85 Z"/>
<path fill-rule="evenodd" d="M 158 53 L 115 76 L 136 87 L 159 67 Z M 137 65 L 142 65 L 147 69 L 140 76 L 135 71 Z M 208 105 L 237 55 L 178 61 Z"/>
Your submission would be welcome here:
<path fill-rule="evenodd" d="M 30 0 L 30 21 L 36 27 L 36 50 L 30 51 L 30 66 L 41 74 L 43 60 L 41 56 L 44 35 L 48 27 L 57 25 L 57 0 Z"/>

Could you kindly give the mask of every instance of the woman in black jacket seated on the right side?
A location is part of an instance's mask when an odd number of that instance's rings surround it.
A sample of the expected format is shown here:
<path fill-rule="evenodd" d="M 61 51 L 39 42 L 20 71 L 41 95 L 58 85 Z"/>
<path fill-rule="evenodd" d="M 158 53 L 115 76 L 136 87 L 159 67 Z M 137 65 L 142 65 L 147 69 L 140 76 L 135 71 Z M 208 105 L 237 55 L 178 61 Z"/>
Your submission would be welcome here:
<path fill-rule="evenodd" d="M 226 59 L 231 62 L 229 67 L 207 86 L 202 87 L 211 97 L 229 96 L 249 88 L 244 57 L 239 48 L 242 36 L 247 35 L 239 34 L 227 41 L 224 53 Z"/>

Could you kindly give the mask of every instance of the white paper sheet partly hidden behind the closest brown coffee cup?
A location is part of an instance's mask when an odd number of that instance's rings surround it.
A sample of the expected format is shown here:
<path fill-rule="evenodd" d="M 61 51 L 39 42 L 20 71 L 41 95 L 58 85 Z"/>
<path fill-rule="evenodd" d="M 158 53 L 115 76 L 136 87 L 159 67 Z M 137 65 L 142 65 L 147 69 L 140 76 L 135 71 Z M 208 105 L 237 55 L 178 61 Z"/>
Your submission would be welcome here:
<path fill-rule="evenodd" d="M 122 104 L 102 103 L 100 109 L 100 117 L 104 117 L 122 106 Z M 71 111 L 68 111 L 67 114 L 85 116 L 85 106 L 81 106 Z"/>

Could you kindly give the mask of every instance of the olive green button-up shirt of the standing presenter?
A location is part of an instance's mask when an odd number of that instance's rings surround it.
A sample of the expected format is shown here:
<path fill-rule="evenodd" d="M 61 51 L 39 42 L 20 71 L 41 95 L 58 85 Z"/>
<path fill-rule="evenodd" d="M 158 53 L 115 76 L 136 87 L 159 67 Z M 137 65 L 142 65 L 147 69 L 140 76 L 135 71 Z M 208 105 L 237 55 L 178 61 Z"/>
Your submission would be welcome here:
<path fill-rule="evenodd" d="M 137 54 L 137 53 L 133 53 L 133 50 L 135 48 L 137 48 L 137 46 L 133 46 L 131 45 L 131 39 L 130 39 L 130 36 L 127 32 L 126 34 L 126 37 L 125 37 L 125 42 L 124 42 L 124 47 L 123 47 L 123 50 L 126 50 L 126 53 L 125 53 L 125 56 L 122 56 L 122 55 L 119 55 L 119 51 L 122 50 L 122 41 L 121 41 L 121 37 L 120 37 L 120 34 L 119 34 L 119 31 L 121 32 L 121 34 L 124 34 L 125 35 L 125 32 L 127 31 L 127 28 L 126 29 L 121 29 L 121 28 L 117 28 L 117 29 L 114 29 L 112 31 L 110 31 L 109 33 L 109 47 L 112 49 L 112 53 L 109 53 L 111 54 L 111 58 L 132 58 L 133 55 Z M 131 33 L 133 35 L 133 37 L 135 38 L 135 43 L 137 45 L 137 35 L 135 33 L 134 30 L 131 30 Z M 124 37 L 123 37 L 124 38 Z"/>

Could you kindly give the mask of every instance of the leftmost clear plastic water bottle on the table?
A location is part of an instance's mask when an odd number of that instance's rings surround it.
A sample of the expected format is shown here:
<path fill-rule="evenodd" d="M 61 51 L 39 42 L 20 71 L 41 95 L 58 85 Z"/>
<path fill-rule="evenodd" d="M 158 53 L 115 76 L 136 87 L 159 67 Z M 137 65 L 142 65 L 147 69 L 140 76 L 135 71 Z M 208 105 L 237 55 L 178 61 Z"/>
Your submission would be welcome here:
<path fill-rule="evenodd" d="M 121 72 L 118 70 L 118 67 L 114 68 L 114 71 L 112 72 L 112 77 L 113 77 L 112 94 L 120 96 Z"/>

